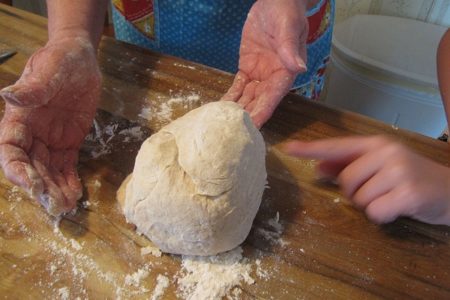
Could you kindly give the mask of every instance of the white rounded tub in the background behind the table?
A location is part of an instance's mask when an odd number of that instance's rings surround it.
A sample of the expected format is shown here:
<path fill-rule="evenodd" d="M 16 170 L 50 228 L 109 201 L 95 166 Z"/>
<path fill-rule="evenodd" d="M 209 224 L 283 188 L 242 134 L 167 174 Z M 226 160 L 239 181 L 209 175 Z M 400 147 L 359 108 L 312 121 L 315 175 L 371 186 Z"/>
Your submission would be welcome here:
<path fill-rule="evenodd" d="M 380 15 L 337 24 L 325 102 L 437 137 L 447 124 L 436 75 L 446 29 Z"/>

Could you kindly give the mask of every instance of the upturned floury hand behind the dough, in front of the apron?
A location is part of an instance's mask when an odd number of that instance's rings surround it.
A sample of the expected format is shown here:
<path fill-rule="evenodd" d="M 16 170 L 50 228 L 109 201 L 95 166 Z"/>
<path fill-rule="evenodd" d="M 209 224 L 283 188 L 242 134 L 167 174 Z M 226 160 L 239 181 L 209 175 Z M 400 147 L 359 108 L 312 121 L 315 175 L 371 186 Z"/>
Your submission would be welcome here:
<path fill-rule="evenodd" d="M 258 0 L 245 22 L 239 71 L 222 100 L 243 106 L 261 127 L 306 71 L 308 20 L 304 0 Z"/>

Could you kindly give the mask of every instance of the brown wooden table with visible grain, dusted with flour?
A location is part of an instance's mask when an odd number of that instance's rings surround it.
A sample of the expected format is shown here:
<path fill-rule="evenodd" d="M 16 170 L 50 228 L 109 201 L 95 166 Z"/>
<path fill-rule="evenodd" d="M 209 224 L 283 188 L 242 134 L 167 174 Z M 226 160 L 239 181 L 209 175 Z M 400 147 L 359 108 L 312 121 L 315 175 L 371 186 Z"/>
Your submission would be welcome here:
<path fill-rule="evenodd" d="M 0 5 L 0 45 L 18 51 L 0 65 L 0 87 L 17 80 L 27 58 L 45 41 L 45 19 Z M 0 178 L 3 298 L 54 299 L 64 296 L 63 291 L 71 299 L 144 299 L 151 296 L 158 274 L 171 279 L 163 298 L 176 297 L 172 278 L 180 270 L 180 257 L 142 256 L 141 247 L 151 243 L 125 222 L 115 198 L 142 138 L 116 134 L 108 141 L 106 129 L 118 132 L 139 125 L 148 136 L 189 109 L 219 99 L 232 76 L 109 38 L 102 40 L 99 61 L 104 83 L 96 120 L 102 134 L 86 142 L 80 159 L 81 202 L 90 205 L 80 204 L 55 229 L 55 220 L 39 205 Z M 294 95 L 284 99 L 262 132 L 269 147 L 270 189 L 243 244 L 255 283 L 242 285 L 242 298 L 450 298 L 448 227 L 407 219 L 374 225 L 337 187 L 314 179 L 313 161 L 286 157 L 276 146 L 288 138 L 384 133 L 448 165 L 448 145 Z M 274 241 L 260 229 L 272 230 L 268 220 L 277 212 L 283 231 Z M 256 260 L 267 280 L 255 274 Z M 148 292 L 125 286 L 127 274 L 148 265 L 150 273 L 141 282 Z"/>

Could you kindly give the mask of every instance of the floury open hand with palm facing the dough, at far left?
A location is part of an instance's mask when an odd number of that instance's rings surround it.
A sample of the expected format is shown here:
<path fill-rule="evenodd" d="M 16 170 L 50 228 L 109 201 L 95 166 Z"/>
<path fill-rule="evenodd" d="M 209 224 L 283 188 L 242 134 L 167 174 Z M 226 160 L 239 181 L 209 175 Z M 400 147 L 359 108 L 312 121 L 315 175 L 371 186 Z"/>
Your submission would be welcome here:
<path fill-rule="evenodd" d="M 78 151 L 92 125 L 101 77 L 88 39 L 52 39 L 29 59 L 20 79 L 0 91 L 0 164 L 6 177 L 51 215 L 82 196 Z"/>

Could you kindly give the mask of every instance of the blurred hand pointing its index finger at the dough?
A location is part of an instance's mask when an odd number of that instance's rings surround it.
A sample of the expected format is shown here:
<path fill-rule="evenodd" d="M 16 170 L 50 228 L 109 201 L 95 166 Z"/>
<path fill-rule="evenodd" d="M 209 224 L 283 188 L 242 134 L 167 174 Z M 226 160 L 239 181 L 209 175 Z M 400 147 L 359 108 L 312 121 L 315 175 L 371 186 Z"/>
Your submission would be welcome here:
<path fill-rule="evenodd" d="M 344 195 L 369 219 L 407 216 L 450 225 L 450 168 L 382 136 L 346 137 L 285 145 L 291 155 L 321 160 L 317 173 L 337 178 Z"/>

